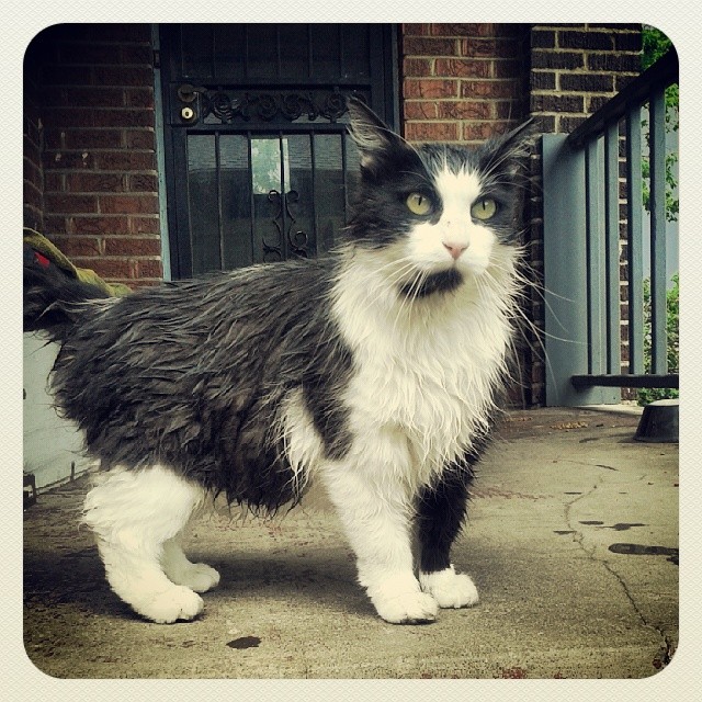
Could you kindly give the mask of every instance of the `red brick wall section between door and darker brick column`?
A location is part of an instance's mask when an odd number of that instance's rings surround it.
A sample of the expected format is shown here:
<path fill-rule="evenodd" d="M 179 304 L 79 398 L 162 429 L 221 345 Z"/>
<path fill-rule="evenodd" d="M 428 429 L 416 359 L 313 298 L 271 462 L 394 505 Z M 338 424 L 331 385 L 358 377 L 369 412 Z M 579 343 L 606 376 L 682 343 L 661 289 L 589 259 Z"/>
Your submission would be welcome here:
<path fill-rule="evenodd" d="M 410 141 L 483 141 L 521 120 L 522 24 L 404 24 L 403 110 Z"/>

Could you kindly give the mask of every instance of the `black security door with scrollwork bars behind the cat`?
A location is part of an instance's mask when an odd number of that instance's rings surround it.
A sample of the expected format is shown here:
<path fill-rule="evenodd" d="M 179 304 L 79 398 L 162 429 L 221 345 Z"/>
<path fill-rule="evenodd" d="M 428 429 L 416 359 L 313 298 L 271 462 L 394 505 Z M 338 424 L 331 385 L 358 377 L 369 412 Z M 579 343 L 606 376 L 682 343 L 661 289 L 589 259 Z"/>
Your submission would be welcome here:
<path fill-rule="evenodd" d="M 393 36 L 382 24 L 161 26 L 174 279 L 333 246 L 358 170 L 347 99 L 397 126 Z"/>

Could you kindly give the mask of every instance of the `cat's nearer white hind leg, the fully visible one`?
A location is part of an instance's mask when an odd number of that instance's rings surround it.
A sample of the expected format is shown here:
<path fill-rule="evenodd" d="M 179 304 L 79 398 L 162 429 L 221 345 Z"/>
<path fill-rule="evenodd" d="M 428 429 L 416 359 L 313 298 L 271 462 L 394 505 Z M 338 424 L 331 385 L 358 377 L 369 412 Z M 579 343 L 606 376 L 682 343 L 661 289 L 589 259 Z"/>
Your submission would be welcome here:
<path fill-rule="evenodd" d="M 86 498 L 83 519 L 95 534 L 110 586 L 154 622 L 191 620 L 203 609 L 202 598 L 171 581 L 162 567 L 163 545 L 180 534 L 202 498 L 202 488 L 159 465 L 115 468 Z M 166 553 L 172 558 L 172 545 Z"/>

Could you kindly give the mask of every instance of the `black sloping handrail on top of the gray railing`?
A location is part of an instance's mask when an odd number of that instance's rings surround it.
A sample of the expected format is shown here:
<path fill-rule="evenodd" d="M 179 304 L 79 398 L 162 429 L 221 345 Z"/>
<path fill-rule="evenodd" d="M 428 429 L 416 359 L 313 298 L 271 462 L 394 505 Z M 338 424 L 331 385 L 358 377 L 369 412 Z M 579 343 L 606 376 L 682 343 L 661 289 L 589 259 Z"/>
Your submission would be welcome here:
<path fill-rule="evenodd" d="M 566 139 L 573 147 L 582 146 L 589 137 L 599 136 L 608 124 L 621 120 L 632 106 L 639 106 L 659 88 L 678 82 L 678 53 L 675 47 L 637 76 L 595 114 L 574 129 Z"/>

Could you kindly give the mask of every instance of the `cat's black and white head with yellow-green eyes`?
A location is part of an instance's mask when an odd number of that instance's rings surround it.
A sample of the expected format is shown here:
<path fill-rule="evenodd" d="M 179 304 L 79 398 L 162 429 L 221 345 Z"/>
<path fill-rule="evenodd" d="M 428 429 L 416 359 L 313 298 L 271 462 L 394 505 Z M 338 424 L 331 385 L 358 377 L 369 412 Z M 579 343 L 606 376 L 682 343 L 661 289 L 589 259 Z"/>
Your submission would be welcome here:
<path fill-rule="evenodd" d="M 477 148 L 414 146 L 364 103 L 349 101 L 361 181 L 349 235 L 406 274 L 406 293 L 449 292 L 496 264 L 513 247 L 518 167 L 528 152 L 526 125 Z M 529 124 L 529 123 L 528 123 Z"/>

